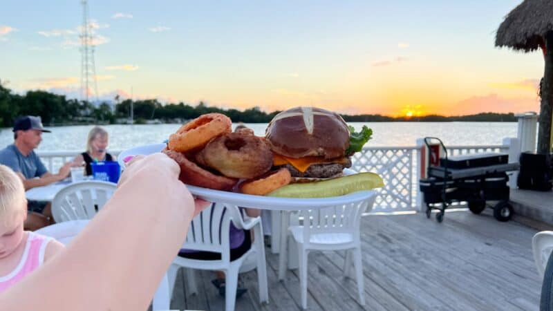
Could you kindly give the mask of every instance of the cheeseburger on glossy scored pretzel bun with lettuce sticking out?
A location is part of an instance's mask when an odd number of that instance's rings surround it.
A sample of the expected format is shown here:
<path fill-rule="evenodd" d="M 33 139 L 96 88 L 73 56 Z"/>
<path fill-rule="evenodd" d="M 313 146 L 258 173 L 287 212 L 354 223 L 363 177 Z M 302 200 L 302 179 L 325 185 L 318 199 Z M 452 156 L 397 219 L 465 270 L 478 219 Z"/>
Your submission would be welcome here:
<path fill-rule="evenodd" d="M 335 112 L 296 107 L 275 115 L 265 138 L 274 153 L 274 167 L 288 168 L 292 177 L 330 178 L 351 167 L 349 156 L 360 151 L 371 134 L 366 126 L 353 133 Z M 350 146 L 352 139 L 355 146 Z"/>

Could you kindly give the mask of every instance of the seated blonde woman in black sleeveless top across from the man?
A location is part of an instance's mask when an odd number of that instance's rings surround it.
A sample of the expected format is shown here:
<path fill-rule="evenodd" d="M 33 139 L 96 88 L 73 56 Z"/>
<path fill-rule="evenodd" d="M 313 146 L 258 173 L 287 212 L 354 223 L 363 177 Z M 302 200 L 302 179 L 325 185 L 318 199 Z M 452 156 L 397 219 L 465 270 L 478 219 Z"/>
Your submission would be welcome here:
<path fill-rule="evenodd" d="M 86 151 L 75 157 L 73 162 L 82 165 L 86 164 L 86 175 L 92 175 L 91 163 L 95 161 L 115 161 L 115 156 L 106 152 L 109 144 L 108 132 L 100 126 L 94 126 L 88 132 L 88 140 L 86 140 Z"/>

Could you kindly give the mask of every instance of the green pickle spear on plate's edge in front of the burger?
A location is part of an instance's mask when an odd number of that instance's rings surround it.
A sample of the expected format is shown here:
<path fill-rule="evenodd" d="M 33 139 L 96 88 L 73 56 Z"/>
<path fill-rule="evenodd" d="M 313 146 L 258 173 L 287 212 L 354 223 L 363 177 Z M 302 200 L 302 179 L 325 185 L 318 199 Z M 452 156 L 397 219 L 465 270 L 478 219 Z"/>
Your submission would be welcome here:
<path fill-rule="evenodd" d="M 357 173 L 316 182 L 286 185 L 272 191 L 267 196 L 277 196 L 280 198 L 328 198 L 330 196 L 344 196 L 351 192 L 371 190 L 379 187 L 384 187 L 384 182 L 378 174 Z"/>

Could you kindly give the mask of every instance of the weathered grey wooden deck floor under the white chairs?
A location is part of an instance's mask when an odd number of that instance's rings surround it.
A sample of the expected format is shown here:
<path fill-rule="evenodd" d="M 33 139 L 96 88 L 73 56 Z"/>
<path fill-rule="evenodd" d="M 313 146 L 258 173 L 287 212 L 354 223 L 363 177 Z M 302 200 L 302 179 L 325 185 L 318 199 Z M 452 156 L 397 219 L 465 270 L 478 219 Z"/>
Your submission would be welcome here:
<path fill-rule="evenodd" d="M 535 229 L 499 223 L 491 209 L 476 216 L 451 212 L 436 223 L 422 214 L 366 216 L 362 250 L 366 305 L 355 279 L 343 277 L 342 252 L 309 256 L 309 310 L 538 310 L 541 280 L 532 258 Z M 256 272 L 241 274 L 248 292 L 236 310 L 301 310 L 297 270 L 277 280 L 278 255 L 267 251 L 270 303 L 259 304 Z M 171 308 L 224 310 L 211 284 L 196 272 L 200 294 L 189 296 L 182 270 Z"/>

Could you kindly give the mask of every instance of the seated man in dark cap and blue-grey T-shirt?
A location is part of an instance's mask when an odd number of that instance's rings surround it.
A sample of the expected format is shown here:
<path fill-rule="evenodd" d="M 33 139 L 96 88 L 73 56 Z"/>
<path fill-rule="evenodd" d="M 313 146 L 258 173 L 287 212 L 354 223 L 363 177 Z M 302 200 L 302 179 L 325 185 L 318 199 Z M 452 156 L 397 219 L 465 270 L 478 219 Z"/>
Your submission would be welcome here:
<path fill-rule="evenodd" d="M 69 176 L 71 162 L 59 169 L 57 174 L 49 173 L 37 156 L 35 148 L 42 140 L 44 129 L 40 117 L 27 115 L 15 120 L 14 143 L 0 150 L 0 164 L 10 167 L 23 180 L 25 190 L 49 185 Z M 36 230 L 51 223 L 52 212 L 49 202 L 28 202 L 28 217 L 25 228 Z"/>

